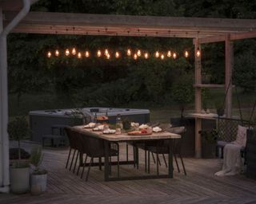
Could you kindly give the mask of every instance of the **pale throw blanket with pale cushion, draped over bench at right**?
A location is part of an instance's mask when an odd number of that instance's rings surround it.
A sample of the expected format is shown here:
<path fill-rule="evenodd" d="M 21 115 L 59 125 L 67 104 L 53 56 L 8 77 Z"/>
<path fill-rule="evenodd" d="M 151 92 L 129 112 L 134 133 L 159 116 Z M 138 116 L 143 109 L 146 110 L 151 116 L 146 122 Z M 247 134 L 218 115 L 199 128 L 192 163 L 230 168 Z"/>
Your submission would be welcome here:
<path fill-rule="evenodd" d="M 238 125 L 237 139 L 225 145 L 222 171 L 216 172 L 215 175 L 238 175 L 242 173 L 244 166 L 241 157 L 241 148 L 246 146 L 246 131 L 246 127 Z"/>

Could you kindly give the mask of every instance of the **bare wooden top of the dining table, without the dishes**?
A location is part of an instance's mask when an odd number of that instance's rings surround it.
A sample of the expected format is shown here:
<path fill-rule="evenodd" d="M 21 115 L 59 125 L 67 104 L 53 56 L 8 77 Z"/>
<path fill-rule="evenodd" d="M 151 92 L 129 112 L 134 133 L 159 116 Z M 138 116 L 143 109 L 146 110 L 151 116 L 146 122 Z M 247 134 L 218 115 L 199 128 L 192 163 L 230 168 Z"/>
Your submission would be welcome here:
<path fill-rule="evenodd" d="M 112 142 L 134 141 L 134 140 L 150 140 L 150 139 L 180 139 L 182 136 L 168 131 L 153 132 L 152 135 L 128 135 L 121 134 L 103 134 L 102 131 L 93 131 L 92 128 L 84 128 L 84 126 L 75 126 L 79 131 L 84 133 L 97 135 L 99 138 Z"/>

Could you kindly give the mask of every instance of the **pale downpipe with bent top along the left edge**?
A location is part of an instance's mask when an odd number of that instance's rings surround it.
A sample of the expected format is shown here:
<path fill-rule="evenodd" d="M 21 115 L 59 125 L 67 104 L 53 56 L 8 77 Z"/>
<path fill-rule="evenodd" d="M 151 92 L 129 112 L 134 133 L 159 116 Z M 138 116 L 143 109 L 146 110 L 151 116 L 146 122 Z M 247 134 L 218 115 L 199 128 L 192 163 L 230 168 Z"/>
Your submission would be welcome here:
<path fill-rule="evenodd" d="M 31 1 L 35 2 L 35 0 Z M 0 192 L 9 192 L 9 136 L 8 124 L 8 73 L 7 73 L 7 35 L 30 11 L 30 0 L 22 0 L 22 10 L 3 28 L 3 14 L 0 8 Z"/>

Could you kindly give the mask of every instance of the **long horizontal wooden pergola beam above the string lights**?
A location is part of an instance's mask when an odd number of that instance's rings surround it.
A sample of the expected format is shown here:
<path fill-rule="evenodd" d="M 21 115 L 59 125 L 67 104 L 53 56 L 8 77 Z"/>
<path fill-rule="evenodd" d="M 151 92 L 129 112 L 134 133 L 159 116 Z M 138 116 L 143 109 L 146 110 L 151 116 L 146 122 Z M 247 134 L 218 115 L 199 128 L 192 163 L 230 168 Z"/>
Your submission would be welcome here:
<path fill-rule="evenodd" d="M 5 23 L 9 22 L 13 16 L 14 12 L 5 12 Z M 90 31 L 93 29 L 96 32 Z M 62 34 L 86 34 L 87 32 L 91 35 L 213 37 L 250 30 L 256 32 L 255 20 L 30 12 L 14 29 L 14 32 Z"/>

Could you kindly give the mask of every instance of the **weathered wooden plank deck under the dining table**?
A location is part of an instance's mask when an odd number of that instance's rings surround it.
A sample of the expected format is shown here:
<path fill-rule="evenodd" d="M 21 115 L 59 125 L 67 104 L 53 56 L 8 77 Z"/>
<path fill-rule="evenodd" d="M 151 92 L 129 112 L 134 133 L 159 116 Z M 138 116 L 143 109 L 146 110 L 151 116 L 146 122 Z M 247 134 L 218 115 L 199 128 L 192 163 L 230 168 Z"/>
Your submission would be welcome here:
<path fill-rule="evenodd" d="M 26 143 L 23 146 L 31 147 Z M 122 159 L 125 159 L 125 146 L 121 147 Z M 188 175 L 178 173 L 174 166 L 174 179 L 104 182 L 103 171 L 92 167 L 86 182 L 85 177 L 80 179 L 65 169 L 67 153 L 67 149 L 44 150 L 42 165 L 49 171 L 46 193 L 40 196 L 0 194 L 0 203 L 256 203 L 256 181 L 244 175 L 214 177 L 214 172 L 222 166 L 220 159 L 185 159 Z M 162 158 L 161 161 L 160 172 L 166 173 Z M 145 174 L 143 151 L 140 151 L 140 162 L 138 170 L 128 165 L 122 166 L 120 173 Z M 154 166 L 151 163 L 152 173 Z M 113 175 L 115 169 L 112 168 Z"/>

